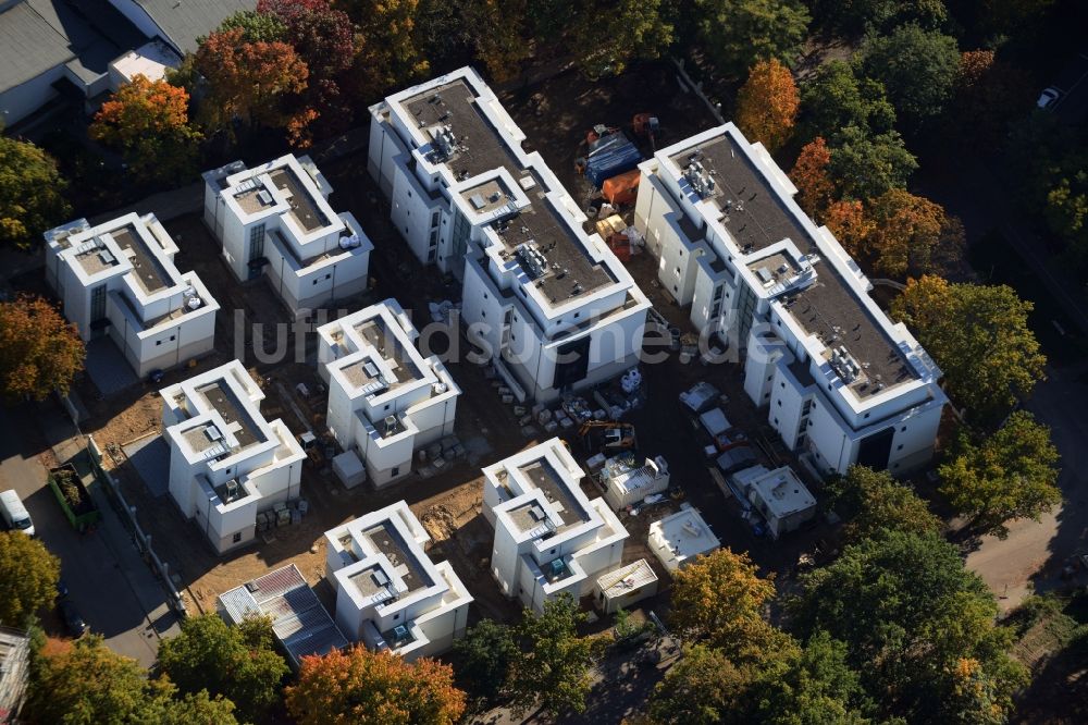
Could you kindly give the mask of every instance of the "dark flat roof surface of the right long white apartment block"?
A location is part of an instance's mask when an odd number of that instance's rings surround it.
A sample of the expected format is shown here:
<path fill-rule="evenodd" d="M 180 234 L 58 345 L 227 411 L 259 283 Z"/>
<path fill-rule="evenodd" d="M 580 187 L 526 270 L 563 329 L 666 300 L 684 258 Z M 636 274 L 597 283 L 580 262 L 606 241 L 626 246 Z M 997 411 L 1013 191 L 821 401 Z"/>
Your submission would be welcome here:
<path fill-rule="evenodd" d="M 690 163 L 703 167 L 703 179 L 714 180 L 713 192 L 703 198 L 717 208 L 721 223 L 741 247 L 744 265 L 758 269 L 780 266 L 791 260 L 780 254 L 759 255 L 770 245 L 790 239 L 801 254 L 823 254 L 809 231 L 788 208 L 770 184 L 766 171 L 724 132 L 704 143 L 689 146 L 669 157 L 681 174 Z M 816 282 L 783 295 L 783 306 L 807 333 L 815 334 L 830 348 L 845 346 L 863 368 L 863 374 L 850 383 L 860 397 L 882 388 L 915 379 L 916 372 L 899 345 L 874 319 L 857 294 L 830 261 L 815 265 Z M 841 376 L 840 376 L 841 377 Z"/>

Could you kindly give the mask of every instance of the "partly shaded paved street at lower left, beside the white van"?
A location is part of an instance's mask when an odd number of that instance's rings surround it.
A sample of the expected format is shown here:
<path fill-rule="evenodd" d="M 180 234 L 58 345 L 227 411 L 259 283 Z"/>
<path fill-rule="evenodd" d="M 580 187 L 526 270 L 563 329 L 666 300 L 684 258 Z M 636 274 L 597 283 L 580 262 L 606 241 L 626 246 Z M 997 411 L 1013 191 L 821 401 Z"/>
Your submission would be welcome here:
<path fill-rule="evenodd" d="M 149 667 L 154 663 L 159 637 L 176 629 L 174 617 L 156 604 L 158 598 L 164 606 L 164 597 L 139 556 L 125 555 L 136 552 L 127 531 L 118 530 L 121 523 L 112 511 L 90 533 L 81 536 L 69 525 L 46 486 L 36 446 L 26 441 L 22 430 L 37 414 L 30 407 L 0 410 L 0 490 L 15 489 L 23 499 L 39 540 L 60 557 L 69 597 L 90 630 L 101 634 L 114 652 Z M 51 419 L 49 414 L 39 417 L 42 422 Z M 125 544 L 131 552 L 119 550 Z M 46 624 L 48 629 L 49 622 Z"/>

